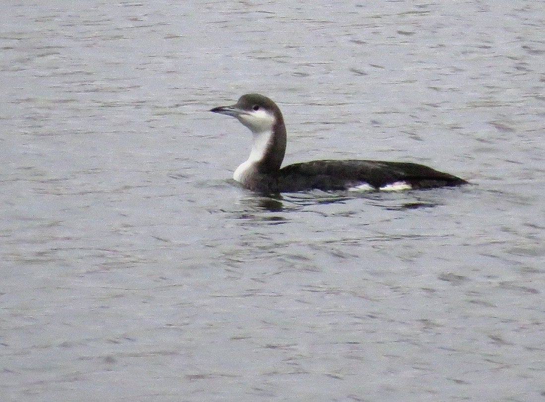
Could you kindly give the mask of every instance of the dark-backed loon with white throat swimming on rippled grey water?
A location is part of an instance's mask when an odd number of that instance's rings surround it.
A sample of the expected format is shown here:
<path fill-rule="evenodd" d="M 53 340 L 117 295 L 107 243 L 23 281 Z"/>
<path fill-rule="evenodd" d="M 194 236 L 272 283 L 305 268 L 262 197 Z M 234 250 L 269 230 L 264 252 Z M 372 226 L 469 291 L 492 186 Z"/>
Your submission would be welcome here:
<path fill-rule="evenodd" d="M 280 108 L 270 98 L 246 94 L 231 106 L 210 112 L 236 117 L 252 132 L 250 157 L 233 179 L 259 193 L 330 190 L 402 190 L 468 183 L 425 165 L 380 160 L 313 160 L 281 168 L 286 152 L 286 126 Z"/>

